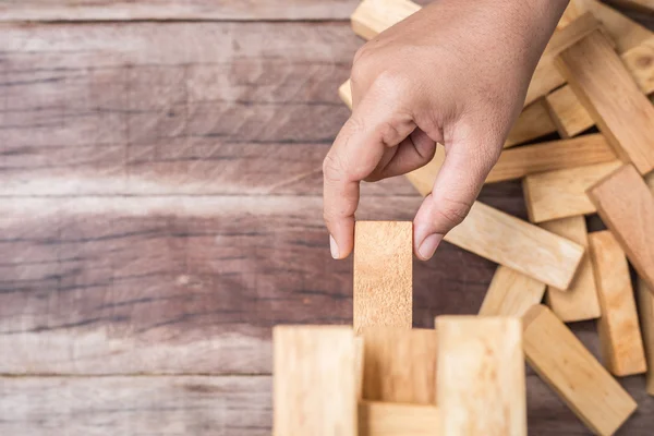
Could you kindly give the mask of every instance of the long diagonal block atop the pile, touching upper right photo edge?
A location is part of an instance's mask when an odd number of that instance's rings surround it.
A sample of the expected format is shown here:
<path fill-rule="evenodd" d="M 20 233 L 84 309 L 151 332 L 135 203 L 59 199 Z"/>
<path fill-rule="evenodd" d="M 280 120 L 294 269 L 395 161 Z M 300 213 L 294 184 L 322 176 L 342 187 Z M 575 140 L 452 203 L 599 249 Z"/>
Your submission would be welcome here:
<path fill-rule="evenodd" d="M 654 107 L 606 37 L 593 32 L 564 50 L 557 65 L 620 159 L 643 174 L 654 169 Z"/>

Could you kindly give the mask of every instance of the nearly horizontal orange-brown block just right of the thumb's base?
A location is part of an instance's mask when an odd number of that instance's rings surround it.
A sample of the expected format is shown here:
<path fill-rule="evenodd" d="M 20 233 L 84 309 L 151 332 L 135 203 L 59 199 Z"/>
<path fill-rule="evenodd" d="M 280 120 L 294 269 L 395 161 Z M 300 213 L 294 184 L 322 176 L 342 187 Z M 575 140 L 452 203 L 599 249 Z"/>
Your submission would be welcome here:
<path fill-rule="evenodd" d="M 501 153 L 486 183 L 521 179 L 529 174 L 615 160 L 616 155 L 601 134 L 550 141 Z"/>

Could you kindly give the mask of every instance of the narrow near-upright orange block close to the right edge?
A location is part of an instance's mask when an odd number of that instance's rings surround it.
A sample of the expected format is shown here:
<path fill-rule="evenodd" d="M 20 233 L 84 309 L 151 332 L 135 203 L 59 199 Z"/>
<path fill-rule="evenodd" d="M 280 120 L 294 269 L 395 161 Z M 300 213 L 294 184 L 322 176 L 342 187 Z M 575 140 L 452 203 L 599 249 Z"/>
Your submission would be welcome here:
<path fill-rule="evenodd" d="M 617 376 L 642 374 L 647 365 L 625 253 L 608 230 L 591 233 L 589 241 L 602 304 L 597 331 L 604 364 Z"/>

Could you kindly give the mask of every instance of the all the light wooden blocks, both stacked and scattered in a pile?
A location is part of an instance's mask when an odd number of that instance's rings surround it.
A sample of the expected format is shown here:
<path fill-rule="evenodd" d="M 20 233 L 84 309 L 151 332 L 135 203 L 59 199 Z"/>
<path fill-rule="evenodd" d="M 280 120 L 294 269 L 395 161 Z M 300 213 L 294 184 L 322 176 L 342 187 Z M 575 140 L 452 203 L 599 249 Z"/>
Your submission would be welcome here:
<path fill-rule="evenodd" d="M 370 39 L 419 9 L 364 0 L 352 26 Z M 351 106 L 349 83 L 339 92 Z M 614 376 L 649 361 L 654 395 L 652 93 L 654 34 L 572 0 L 486 181 L 521 179 L 531 222 L 477 202 L 446 237 L 499 264 L 479 316 L 412 329 L 411 223 L 359 221 L 353 327 L 274 330 L 275 434 L 526 435 L 524 359 L 593 433 L 615 433 L 637 403 Z M 422 195 L 443 159 L 438 146 L 408 174 Z M 608 230 L 589 233 L 595 213 Z M 585 319 L 597 319 L 602 363 L 565 324 Z"/>

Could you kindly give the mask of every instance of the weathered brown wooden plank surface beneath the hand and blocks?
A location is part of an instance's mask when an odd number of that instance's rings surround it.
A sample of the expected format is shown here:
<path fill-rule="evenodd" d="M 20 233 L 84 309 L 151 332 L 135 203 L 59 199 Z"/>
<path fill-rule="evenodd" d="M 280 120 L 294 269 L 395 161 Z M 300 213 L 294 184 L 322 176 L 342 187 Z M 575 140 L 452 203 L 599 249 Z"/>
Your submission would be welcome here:
<path fill-rule="evenodd" d="M 0 4 L 0 434 L 270 433 L 270 327 L 352 315 L 320 167 L 355 4 Z M 519 183 L 481 199 L 525 217 Z M 366 184 L 360 217 L 419 204 L 401 178 Z M 475 313 L 495 266 L 444 244 L 414 269 L 432 327 Z M 594 325 L 574 331 L 597 354 Z M 530 434 L 585 434 L 528 384 Z M 623 434 L 649 435 L 644 379 L 625 385 Z"/>

